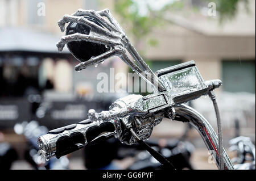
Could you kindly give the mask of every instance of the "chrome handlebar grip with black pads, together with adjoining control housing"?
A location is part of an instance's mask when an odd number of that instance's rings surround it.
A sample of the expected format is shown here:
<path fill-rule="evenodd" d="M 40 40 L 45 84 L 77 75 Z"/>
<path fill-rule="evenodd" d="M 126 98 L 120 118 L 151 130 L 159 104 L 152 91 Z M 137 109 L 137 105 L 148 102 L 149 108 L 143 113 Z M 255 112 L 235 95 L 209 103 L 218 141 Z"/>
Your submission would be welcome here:
<path fill-rule="evenodd" d="M 142 140 L 146 140 L 150 137 L 153 127 L 162 121 L 164 108 L 168 108 L 168 104 L 163 104 L 161 100 L 165 100 L 163 95 L 155 95 L 152 98 L 141 95 L 125 96 L 116 100 L 109 111 L 97 113 L 89 110 L 88 120 L 53 129 L 40 136 L 38 146 L 45 154 L 45 158 L 49 159 L 53 156 L 60 158 L 110 136 L 132 145 L 137 141 L 130 134 L 130 128 L 133 128 Z M 163 109 L 159 108 L 159 104 L 163 104 Z"/>

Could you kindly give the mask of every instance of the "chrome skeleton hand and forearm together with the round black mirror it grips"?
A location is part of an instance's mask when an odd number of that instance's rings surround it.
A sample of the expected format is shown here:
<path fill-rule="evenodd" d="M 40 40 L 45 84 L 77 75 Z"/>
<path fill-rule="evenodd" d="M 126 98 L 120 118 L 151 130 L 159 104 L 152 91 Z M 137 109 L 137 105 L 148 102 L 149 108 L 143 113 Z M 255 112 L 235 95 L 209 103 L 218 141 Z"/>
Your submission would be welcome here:
<path fill-rule="evenodd" d="M 67 44 L 73 56 L 81 61 L 75 68 L 77 71 L 97 65 L 112 56 L 119 56 L 131 69 L 152 83 L 155 90 L 164 90 L 162 81 L 139 56 L 125 35 L 125 31 L 108 9 L 102 11 L 79 9 L 72 15 L 64 15 L 58 22 L 63 32 L 66 23 L 69 23 L 66 36 L 57 43 L 57 48 L 61 51 Z M 129 58 L 126 50 L 137 64 Z"/>

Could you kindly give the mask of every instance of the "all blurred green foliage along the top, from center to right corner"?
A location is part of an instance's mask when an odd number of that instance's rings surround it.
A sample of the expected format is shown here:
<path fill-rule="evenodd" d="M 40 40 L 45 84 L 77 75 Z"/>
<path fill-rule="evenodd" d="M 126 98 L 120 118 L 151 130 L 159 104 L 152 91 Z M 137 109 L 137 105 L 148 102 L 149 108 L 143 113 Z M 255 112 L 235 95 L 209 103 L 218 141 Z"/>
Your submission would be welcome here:
<path fill-rule="evenodd" d="M 238 9 L 238 3 L 243 2 L 248 10 L 248 0 L 198 0 L 201 2 L 214 2 L 216 3 L 216 10 L 219 14 L 220 23 L 224 23 L 225 20 L 230 20 L 235 17 Z M 185 8 L 184 1 L 173 1 L 163 6 L 160 10 L 152 10 L 150 6 L 147 6 L 148 14 L 142 16 L 139 13 L 139 5 L 134 0 L 114 0 L 114 11 L 121 18 L 121 24 L 125 24 L 126 31 L 129 36 L 133 36 L 135 41 L 143 41 L 143 39 L 152 31 L 155 27 L 163 26 L 163 15 L 166 11 L 181 12 Z M 187 11 L 187 9 L 186 9 Z M 191 6 L 191 11 L 199 12 L 198 7 Z M 188 12 L 184 12 L 188 13 Z M 149 45 L 156 45 L 157 41 L 154 39 L 148 40 Z M 136 43 L 135 43 L 136 45 Z"/>

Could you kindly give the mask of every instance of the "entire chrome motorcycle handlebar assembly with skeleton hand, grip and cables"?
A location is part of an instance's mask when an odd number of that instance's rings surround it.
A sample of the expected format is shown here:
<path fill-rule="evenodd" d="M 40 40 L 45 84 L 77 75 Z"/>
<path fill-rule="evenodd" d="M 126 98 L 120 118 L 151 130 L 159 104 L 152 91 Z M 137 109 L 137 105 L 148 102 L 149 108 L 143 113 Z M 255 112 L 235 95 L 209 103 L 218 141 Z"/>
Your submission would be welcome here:
<path fill-rule="evenodd" d="M 69 24 L 65 31 L 66 23 Z M 125 31 L 108 9 L 79 9 L 72 15 L 64 15 L 58 24 L 60 30 L 66 34 L 56 44 L 57 48 L 61 51 L 67 44 L 73 56 L 81 61 L 75 67 L 76 71 L 88 66 L 97 66 L 109 57 L 118 56 L 151 84 L 154 93 L 146 96 L 128 95 L 117 99 L 109 111 L 89 110 L 88 119 L 53 129 L 40 136 L 38 146 L 46 159 L 60 158 L 84 146 L 100 144 L 102 140 L 114 136 L 123 144 L 142 145 L 162 165 L 176 169 L 171 160 L 167 160 L 144 142 L 151 136 L 153 128 L 167 117 L 172 121 L 189 123 L 196 128 L 208 150 L 213 151 L 218 169 L 234 169 L 223 148 L 220 113 L 214 95 L 214 89 L 222 85 L 220 80 L 204 81 L 194 61 L 154 73 L 139 56 Z M 184 104 L 203 95 L 209 95 L 213 102 L 218 136 L 199 112 Z"/>

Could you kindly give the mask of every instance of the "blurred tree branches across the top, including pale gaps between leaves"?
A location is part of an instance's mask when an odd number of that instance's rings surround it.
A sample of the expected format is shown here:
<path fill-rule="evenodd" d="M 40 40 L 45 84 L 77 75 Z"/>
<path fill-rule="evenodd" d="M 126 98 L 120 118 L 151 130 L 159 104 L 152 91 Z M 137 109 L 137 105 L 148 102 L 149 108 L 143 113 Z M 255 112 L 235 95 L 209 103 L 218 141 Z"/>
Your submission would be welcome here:
<path fill-rule="evenodd" d="M 163 26 L 165 12 L 171 11 L 180 14 L 184 10 L 184 13 L 188 14 L 189 10 L 191 12 L 198 10 L 197 5 L 200 3 L 207 7 L 210 2 L 216 3 L 220 23 L 225 23 L 225 20 L 236 16 L 240 2 L 249 12 L 248 0 L 114 0 L 114 11 L 119 15 L 120 23 L 126 25 L 126 32 L 133 37 L 135 47 L 142 53 L 143 48 L 139 46 L 140 42 L 144 42 L 143 40 L 152 32 L 153 28 Z M 147 44 L 155 46 L 158 42 L 154 38 L 150 38 Z"/>

